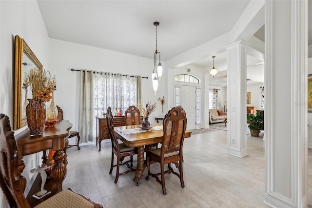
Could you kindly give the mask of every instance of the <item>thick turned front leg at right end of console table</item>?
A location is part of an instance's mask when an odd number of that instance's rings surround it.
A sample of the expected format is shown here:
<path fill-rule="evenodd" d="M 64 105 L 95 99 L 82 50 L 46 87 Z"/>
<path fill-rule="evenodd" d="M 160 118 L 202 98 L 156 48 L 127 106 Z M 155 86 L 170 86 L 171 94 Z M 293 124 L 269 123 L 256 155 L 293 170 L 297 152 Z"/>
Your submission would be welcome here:
<path fill-rule="evenodd" d="M 64 165 L 65 154 L 63 150 L 57 150 L 54 155 L 54 166 L 52 169 L 52 178 L 57 185 L 57 193 L 62 191 L 62 184 L 66 175 L 66 166 Z"/>

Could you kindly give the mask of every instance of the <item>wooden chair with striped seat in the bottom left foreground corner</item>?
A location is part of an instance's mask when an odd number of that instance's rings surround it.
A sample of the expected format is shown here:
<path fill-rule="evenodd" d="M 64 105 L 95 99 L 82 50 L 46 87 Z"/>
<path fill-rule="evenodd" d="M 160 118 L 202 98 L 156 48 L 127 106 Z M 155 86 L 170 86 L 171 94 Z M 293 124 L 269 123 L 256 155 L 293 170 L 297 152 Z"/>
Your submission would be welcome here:
<path fill-rule="evenodd" d="M 0 187 L 11 208 L 30 208 L 22 190 L 17 142 L 9 118 L 4 114 L 0 114 Z M 69 188 L 36 208 L 102 208 L 102 205 Z"/>

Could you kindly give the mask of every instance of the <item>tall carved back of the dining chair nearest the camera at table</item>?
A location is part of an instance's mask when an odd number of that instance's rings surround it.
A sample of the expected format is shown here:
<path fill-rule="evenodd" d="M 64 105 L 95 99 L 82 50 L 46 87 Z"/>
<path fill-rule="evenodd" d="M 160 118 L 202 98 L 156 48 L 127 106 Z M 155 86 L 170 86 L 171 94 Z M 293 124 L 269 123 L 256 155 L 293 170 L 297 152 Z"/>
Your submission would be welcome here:
<path fill-rule="evenodd" d="M 161 145 L 161 157 L 169 152 L 179 151 L 182 155 L 182 146 L 186 130 L 187 119 L 181 106 L 173 107 L 165 115 L 163 122 L 163 141 Z"/>

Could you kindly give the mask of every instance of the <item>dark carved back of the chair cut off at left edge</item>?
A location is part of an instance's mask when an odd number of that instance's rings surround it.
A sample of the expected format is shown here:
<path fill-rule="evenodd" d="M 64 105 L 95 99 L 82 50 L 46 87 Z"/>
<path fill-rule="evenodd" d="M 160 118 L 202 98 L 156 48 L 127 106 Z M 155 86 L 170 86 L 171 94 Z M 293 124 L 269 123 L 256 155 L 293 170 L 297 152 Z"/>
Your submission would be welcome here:
<path fill-rule="evenodd" d="M 0 151 L 0 186 L 10 207 L 30 208 L 21 187 L 17 142 L 4 114 L 0 114 Z"/>

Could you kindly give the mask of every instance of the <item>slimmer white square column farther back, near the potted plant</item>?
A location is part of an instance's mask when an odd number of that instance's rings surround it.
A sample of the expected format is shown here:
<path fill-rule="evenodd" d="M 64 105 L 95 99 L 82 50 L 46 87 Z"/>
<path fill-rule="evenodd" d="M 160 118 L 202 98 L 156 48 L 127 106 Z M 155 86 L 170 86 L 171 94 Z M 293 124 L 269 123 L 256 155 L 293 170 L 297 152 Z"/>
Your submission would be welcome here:
<path fill-rule="evenodd" d="M 247 156 L 246 42 L 227 45 L 228 151 L 236 157 Z"/>

